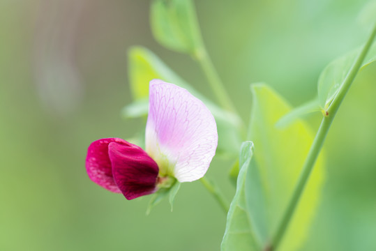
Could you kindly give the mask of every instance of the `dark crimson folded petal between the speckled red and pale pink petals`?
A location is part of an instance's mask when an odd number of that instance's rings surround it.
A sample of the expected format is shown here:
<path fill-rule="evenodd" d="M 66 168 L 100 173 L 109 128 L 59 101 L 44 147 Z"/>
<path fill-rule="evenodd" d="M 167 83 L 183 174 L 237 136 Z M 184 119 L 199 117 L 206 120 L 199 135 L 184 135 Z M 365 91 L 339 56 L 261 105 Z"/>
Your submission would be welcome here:
<path fill-rule="evenodd" d="M 126 199 L 135 199 L 156 191 L 158 165 L 140 147 L 112 142 L 108 146 L 112 174 Z"/>

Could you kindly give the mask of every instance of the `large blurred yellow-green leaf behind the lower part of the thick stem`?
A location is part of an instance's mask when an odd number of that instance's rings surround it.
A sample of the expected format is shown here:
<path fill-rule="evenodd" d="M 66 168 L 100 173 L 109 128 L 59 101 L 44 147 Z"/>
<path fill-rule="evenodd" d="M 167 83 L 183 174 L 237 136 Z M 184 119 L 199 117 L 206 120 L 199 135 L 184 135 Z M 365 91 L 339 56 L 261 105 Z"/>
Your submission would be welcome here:
<path fill-rule="evenodd" d="M 250 139 L 256 150 L 255 167 L 246 179 L 246 198 L 254 232 L 265 247 L 292 196 L 314 137 L 299 119 L 283 129 L 276 128 L 276 122 L 291 107 L 265 84 L 254 85 L 252 91 Z M 322 162 L 320 156 L 278 251 L 299 250 L 308 235 L 322 189 Z"/>

